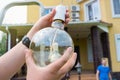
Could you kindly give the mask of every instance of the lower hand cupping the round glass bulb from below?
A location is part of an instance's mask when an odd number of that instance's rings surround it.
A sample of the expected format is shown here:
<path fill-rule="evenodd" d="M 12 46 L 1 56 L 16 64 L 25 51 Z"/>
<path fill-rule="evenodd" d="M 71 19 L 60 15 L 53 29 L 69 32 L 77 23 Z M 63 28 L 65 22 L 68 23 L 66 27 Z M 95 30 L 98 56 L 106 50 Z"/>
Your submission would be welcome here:
<path fill-rule="evenodd" d="M 70 57 L 70 55 L 72 55 Z M 68 48 L 64 55 L 46 67 L 37 66 L 32 58 L 32 52 L 26 50 L 27 80 L 60 80 L 75 64 L 76 53 Z"/>

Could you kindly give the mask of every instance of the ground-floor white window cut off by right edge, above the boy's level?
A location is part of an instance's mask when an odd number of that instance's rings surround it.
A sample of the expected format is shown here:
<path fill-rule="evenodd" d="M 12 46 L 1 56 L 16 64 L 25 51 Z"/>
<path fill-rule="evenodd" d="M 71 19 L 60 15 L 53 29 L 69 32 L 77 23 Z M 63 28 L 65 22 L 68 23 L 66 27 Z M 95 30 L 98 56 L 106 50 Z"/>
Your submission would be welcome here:
<path fill-rule="evenodd" d="M 117 61 L 120 61 L 120 34 L 115 34 L 116 56 Z"/>

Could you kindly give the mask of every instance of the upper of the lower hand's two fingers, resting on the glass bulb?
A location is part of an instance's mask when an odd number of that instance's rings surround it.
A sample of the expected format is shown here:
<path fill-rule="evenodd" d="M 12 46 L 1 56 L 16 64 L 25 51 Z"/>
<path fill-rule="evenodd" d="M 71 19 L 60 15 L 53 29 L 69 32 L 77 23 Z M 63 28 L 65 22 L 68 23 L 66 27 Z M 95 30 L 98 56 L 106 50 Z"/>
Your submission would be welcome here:
<path fill-rule="evenodd" d="M 57 72 L 59 71 L 60 68 L 63 67 L 64 64 L 66 64 L 66 62 L 69 60 L 71 54 L 72 54 L 73 50 L 71 47 L 69 47 L 64 55 L 58 59 L 57 61 L 51 63 L 50 65 L 48 65 L 48 67 L 50 68 L 51 72 Z"/>

